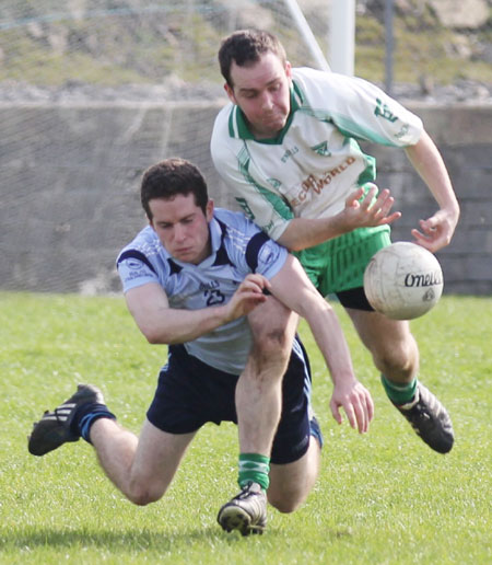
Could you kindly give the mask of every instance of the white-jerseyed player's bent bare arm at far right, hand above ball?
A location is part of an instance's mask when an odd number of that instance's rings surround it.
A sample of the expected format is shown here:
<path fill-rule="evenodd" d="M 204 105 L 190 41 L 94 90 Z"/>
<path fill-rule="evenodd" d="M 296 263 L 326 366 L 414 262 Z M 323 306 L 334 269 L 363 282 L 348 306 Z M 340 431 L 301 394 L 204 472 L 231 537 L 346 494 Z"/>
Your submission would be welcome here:
<path fill-rule="evenodd" d="M 419 142 L 406 148 L 407 157 L 427 185 L 440 209 L 430 218 L 420 220 L 412 230 L 415 243 L 436 252 L 449 244 L 459 219 L 459 204 L 453 189 L 443 158 L 426 131 Z"/>

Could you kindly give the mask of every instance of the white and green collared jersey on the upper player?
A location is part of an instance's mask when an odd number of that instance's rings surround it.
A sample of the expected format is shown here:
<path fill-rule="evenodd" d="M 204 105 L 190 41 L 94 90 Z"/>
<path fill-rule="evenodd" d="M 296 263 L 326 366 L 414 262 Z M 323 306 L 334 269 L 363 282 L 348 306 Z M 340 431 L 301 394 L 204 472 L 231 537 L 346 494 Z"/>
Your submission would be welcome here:
<path fill-rule="evenodd" d="M 376 85 L 315 69 L 293 69 L 291 114 L 276 139 L 256 140 L 243 112 L 227 104 L 215 118 L 214 165 L 243 210 L 278 239 L 294 217 L 340 212 L 347 196 L 375 178 L 375 160 L 358 140 L 406 147 L 421 119 Z"/>

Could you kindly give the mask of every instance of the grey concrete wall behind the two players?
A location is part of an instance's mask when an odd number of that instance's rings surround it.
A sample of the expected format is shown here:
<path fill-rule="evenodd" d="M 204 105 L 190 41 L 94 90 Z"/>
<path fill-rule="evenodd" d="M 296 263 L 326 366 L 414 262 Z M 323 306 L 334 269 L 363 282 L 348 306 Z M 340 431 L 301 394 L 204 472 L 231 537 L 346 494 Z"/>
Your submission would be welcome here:
<path fill-rule="evenodd" d="M 200 166 L 220 206 L 234 207 L 210 163 L 221 103 L 0 106 L 0 289 L 118 291 L 118 251 L 144 224 L 141 173 L 164 157 Z M 437 254 L 445 292 L 492 293 L 492 106 L 410 106 L 426 124 L 461 203 L 452 244 Z M 403 217 L 394 240 L 435 204 L 402 151 L 364 146 L 378 159 Z"/>

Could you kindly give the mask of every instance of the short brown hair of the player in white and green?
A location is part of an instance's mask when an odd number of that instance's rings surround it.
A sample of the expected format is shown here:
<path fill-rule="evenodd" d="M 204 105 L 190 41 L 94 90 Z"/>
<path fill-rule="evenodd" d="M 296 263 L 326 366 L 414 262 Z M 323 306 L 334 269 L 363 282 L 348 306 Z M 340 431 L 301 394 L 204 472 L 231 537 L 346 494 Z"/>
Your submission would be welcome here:
<path fill-rule="evenodd" d="M 239 30 L 222 41 L 219 49 L 219 65 L 225 82 L 233 88 L 231 81 L 231 66 L 233 61 L 238 67 L 247 67 L 258 62 L 261 55 L 273 53 L 283 65 L 286 61 L 285 49 L 280 41 L 269 32 L 262 30 Z"/>

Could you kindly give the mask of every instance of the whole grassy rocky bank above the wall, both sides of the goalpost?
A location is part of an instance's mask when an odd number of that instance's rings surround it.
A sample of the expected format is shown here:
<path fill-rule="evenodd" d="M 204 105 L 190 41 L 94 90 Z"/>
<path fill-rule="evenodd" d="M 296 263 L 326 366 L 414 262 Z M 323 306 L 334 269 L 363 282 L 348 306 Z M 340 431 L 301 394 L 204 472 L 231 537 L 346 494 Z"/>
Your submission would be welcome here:
<path fill-rule="evenodd" d="M 234 9 L 226 11 L 223 3 L 210 0 L 178 8 L 98 0 L 87 3 L 85 10 L 79 18 L 69 7 L 60 9 L 59 2 L 48 0 L 19 0 L 14 8 L 5 9 L 0 19 L 0 81 L 118 85 L 159 83 L 169 74 L 191 83 L 221 81 L 216 48 L 236 21 Z M 312 23 L 324 46 L 328 23 Z M 284 15 L 273 11 L 272 25 L 292 61 L 306 64 L 298 56 L 297 32 L 285 23 Z M 418 83 L 430 77 L 436 84 L 458 79 L 491 82 L 492 66 L 480 56 L 480 46 L 491 43 L 490 25 L 457 32 L 440 25 L 429 8 L 419 16 L 397 10 L 395 81 Z M 356 74 L 383 81 L 384 61 L 382 13 L 359 14 Z"/>

